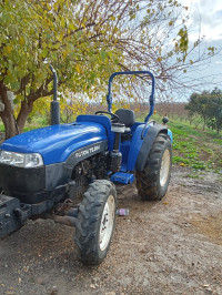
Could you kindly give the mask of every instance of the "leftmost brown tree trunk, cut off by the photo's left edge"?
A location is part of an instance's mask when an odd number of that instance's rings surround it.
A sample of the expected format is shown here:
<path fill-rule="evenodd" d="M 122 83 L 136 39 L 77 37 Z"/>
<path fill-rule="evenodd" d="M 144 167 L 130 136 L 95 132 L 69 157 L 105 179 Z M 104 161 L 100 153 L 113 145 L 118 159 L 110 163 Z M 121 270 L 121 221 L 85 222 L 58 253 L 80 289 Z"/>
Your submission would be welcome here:
<path fill-rule="evenodd" d="M 7 95 L 7 88 L 3 84 L 3 81 L 0 81 L 0 98 L 2 103 L 4 104 L 3 112 L 0 112 L 0 118 L 3 122 L 6 130 L 6 140 L 10 139 L 18 134 L 16 120 L 13 116 L 13 108 Z"/>

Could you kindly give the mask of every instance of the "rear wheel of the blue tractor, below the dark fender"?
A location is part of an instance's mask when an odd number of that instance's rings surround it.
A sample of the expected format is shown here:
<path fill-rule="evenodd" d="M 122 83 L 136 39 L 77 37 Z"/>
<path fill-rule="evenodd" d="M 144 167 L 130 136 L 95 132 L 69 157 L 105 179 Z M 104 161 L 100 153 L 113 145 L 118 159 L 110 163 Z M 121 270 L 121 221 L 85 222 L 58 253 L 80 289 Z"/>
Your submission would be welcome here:
<path fill-rule="evenodd" d="M 138 194 L 143 201 L 160 201 L 168 191 L 172 167 L 171 140 L 159 133 L 143 171 L 137 172 Z"/>

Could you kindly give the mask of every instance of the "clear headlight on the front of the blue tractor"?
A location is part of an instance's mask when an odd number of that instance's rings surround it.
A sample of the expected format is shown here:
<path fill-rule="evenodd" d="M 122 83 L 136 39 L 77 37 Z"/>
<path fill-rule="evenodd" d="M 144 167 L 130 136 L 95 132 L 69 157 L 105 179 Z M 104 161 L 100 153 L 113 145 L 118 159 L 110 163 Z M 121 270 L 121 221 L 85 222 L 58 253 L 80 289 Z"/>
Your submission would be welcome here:
<path fill-rule="evenodd" d="M 19 167 L 37 167 L 43 165 L 40 154 L 22 154 L 9 151 L 0 151 L 0 163 L 19 166 Z"/>

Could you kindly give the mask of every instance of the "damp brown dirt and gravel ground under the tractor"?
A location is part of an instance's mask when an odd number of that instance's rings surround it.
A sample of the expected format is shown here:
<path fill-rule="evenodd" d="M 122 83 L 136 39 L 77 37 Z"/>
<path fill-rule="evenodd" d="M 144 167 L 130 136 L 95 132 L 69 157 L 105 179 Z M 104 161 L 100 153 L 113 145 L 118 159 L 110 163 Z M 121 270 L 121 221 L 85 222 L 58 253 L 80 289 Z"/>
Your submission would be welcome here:
<path fill-rule="evenodd" d="M 144 203 L 119 186 L 113 243 L 105 261 L 85 267 L 74 228 L 28 221 L 0 241 L 0 294 L 222 294 L 222 182 L 173 167 L 167 196 Z"/>

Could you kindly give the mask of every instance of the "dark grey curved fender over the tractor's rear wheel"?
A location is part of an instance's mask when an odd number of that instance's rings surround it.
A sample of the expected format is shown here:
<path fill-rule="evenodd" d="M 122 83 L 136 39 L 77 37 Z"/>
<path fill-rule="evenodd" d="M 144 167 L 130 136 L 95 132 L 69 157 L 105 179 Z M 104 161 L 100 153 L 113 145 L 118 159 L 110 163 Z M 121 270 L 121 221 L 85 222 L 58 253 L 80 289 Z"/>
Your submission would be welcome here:
<path fill-rule="evenodd" d="M 153 142 L 159 133 L 168 134 L 168 128 L 162 124 L 154 124 L 148 129 L 140 152 L 138 154 L 135 171 L 142 171 L 144 169 L 150 150 L 152 149 Z"/>

